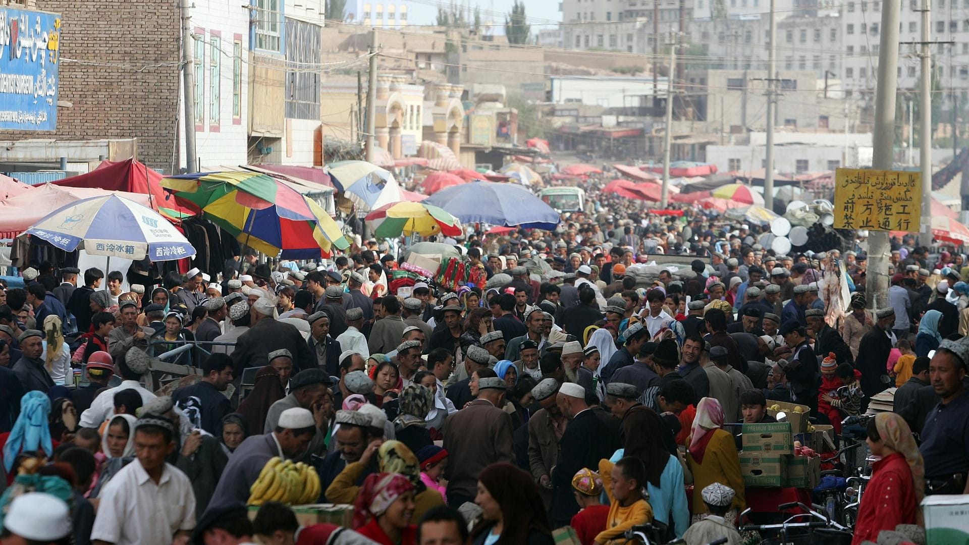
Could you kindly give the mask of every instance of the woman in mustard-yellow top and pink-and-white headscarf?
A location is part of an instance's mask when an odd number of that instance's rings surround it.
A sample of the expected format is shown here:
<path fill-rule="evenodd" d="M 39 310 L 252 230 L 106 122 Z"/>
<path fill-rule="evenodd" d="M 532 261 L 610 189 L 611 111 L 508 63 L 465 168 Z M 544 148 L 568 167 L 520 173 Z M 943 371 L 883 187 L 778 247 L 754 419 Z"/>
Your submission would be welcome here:
<path fill-rule="evenodd" d="M 727 522 L 735 524 L 738 510 L 746 504 L 740 458 L 736 454 L 734 435 L 721 429 L 724 411 L 720 401 L 703 398 L 697 404 L 690 437 L 687 439 L 687 464 L 693 473 L 693 522 L 703 519 L 706 506 L 701 493 L 713 483 L 734 489 L 733 507 L 727 512 Z"/>

